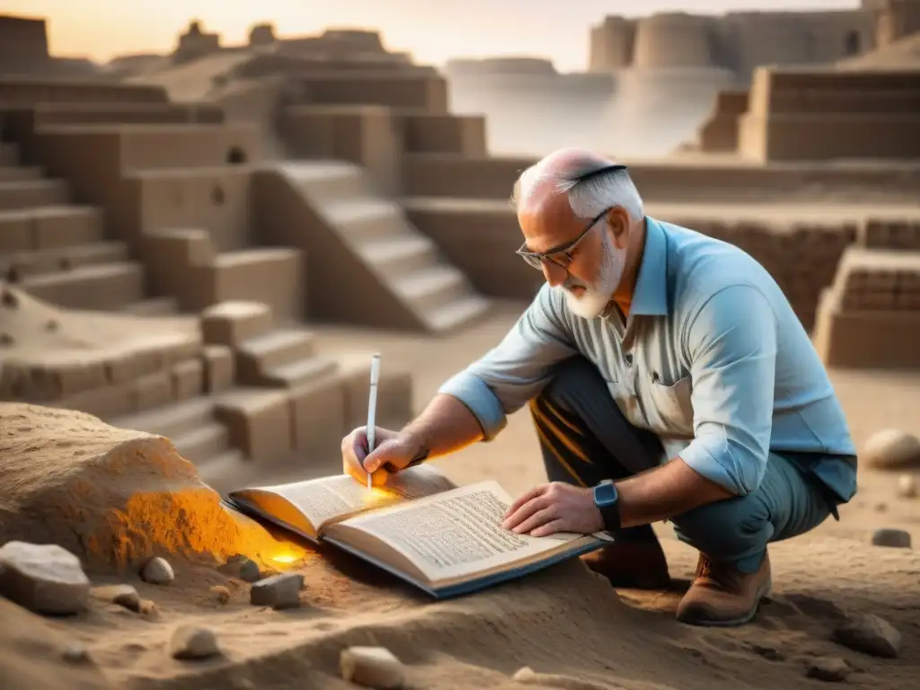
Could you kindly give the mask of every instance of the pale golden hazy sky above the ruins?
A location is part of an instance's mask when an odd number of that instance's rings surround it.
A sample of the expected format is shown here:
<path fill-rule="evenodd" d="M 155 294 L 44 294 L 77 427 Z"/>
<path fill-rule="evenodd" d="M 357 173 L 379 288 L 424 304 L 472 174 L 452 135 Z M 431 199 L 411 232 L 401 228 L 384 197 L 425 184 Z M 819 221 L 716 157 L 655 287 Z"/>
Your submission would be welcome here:
<path fill-rule="evenodd" d="M 662 10 L 849 9 L 858 0 L 0 0 L 0 14 L 48 17 L 52 52 L 108 60 L 124 52 L 167 52 L 191 18 L 243 42 L 270 21 L 279 34 L 327 27 L 379 29 L 391 50 L 421 63 L 454 56 L 529 54 L 561 70 L 587 63 L 588 31 L 605 15 Z"/>

